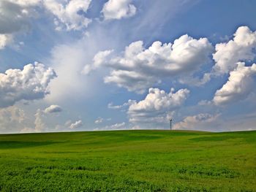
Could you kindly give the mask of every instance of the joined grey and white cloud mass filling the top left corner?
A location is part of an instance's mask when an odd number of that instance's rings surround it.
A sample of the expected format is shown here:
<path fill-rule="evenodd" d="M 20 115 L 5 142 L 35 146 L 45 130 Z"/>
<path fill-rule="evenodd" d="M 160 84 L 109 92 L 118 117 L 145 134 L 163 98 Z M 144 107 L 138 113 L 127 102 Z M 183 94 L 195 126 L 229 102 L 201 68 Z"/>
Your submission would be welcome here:
<path fill-rule="evenodd" d="M 1 0 L 0 1 L 0 49 L 12 42 L 15 34 L 28 31 L 31 19 L 39 18 L 42 10 L 55 16 L 56 29 L 80 30 L 86 28 L 91 19 L 84 15 L 91 0 Z M 40 12 L 41 11 L 41 12 Z"/>

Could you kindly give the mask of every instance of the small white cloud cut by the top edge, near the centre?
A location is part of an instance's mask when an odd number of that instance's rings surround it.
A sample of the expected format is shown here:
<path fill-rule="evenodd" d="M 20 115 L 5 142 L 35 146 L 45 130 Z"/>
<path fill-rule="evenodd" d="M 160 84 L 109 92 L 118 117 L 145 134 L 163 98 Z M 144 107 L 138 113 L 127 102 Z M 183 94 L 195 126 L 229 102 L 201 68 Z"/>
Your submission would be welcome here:
<path fill-rule="evenodd" d="M 135 15 L 136 7 L 132 0 L 109 0 L 103 6 L 102 13 L 105 20 L 129 18 Z"/>

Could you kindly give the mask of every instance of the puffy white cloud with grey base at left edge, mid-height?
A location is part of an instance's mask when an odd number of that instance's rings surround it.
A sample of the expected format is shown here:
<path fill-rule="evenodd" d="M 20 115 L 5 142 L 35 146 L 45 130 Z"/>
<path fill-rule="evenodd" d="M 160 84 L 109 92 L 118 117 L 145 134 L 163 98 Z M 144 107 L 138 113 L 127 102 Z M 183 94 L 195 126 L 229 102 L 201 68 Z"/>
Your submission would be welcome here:
<path fill-rule="evenodd" d="M 0 73 L 0 107 L 11 106 L 22 99 L 43 99 L 49 93 L 50 80 L 55 77 L 52 68 L 39 63 Z"/>

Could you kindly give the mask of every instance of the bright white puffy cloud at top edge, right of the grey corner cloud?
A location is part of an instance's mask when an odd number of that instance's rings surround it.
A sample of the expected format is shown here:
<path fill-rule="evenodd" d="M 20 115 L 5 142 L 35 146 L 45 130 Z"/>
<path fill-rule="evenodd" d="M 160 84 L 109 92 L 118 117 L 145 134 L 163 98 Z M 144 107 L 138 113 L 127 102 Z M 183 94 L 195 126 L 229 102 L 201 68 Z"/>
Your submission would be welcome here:
<path fill-rule="evenodd" d="M 91 23 L 91 19 L 84 16 L 90 4 L 91 0 L 69 0 L 67 4 L 56 0 L 44 0 L 45 8 L 56 17 L 56 29 L 67 31 L 81 30 Z"/>

